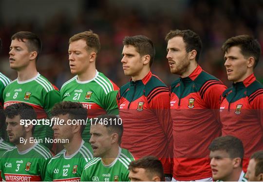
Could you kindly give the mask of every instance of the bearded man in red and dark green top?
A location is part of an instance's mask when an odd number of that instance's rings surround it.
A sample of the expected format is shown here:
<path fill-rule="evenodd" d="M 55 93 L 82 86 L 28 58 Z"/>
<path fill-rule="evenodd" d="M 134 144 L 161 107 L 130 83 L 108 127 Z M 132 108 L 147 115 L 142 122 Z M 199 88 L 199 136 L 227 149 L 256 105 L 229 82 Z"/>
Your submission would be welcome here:
<path fill-rule="evenodd" d="M 180 75 L 170 87 L 172 180 L 212 181 L 208 146 L 221 135 L 219 98 L 226 87 L 198 65 L 202 42 L 195 32 L 170 31 L 165 40 L 170 71 Z"/>

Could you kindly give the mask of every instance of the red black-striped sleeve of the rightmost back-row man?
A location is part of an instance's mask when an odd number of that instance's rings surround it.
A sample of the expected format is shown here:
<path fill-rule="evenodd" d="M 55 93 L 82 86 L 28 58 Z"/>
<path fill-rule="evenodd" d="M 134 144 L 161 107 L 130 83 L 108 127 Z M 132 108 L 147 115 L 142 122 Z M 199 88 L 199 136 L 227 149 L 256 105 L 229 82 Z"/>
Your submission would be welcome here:
<path fill-rule="evenodd" d="M 252 105 L 252 108 L 257 112 L 261 127 L 263 128 L 263 88 L 251 94 L 248 101 Z"/>

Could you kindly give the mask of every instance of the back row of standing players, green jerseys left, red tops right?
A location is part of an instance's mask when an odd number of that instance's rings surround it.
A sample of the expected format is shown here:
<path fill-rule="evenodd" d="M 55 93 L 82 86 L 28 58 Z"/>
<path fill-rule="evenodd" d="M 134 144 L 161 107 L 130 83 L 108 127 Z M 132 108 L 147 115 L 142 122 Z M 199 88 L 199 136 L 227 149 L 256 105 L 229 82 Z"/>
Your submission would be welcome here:
<path fill-rule="evenodd" d="M 118 87 L 95 69 L 100 49 L 98 35 L 82 32 L 69 40 L 69 64 L 76 76 L 63 84 L 60 93 L 37 72 L 41 49 L 38 37 L 18 32 L 11 40 L 10 67 L 18 71 L 18 79 L 8 85 L 6 77 L 0 79 L 7 85 L 1 94 L 4 108 L 26 102 L 36 108 L 38 118 L 45 118 L 51 117 L 51 108 L 62 100 L 81 102 L 89 109 L 90 118 L 102 113 L 119 114 L 124 126 L 121 146 L 136 158 L 160 158 L 165 174 L 169 176 L 173 171 L 175 180 L 212 179 L 209 162 L 202 156 L 209 155 L 209 144 L 221 133 L 244 143 L 244 170 L 248 157 L 263 149 L 263 86 L 253 75 L 261 47 L 250 36 L 230 38 L 222 47 L 227 78 L 234 82 L 227 90 L 198 65 L 202 42 L 193 31 L 175 30 L 166 36 L 170 71 L 180 75 L 170 89 L 150 72 L 155 55 L 152 41 L 145 36 L 126 37 L 121 62 L 131 81 L 117 91 Z M 34 136 L 52 138 L 50 130 L 37 126 Z M 89 141 L 89 133 L 87 125 L 85 142 Z"/>

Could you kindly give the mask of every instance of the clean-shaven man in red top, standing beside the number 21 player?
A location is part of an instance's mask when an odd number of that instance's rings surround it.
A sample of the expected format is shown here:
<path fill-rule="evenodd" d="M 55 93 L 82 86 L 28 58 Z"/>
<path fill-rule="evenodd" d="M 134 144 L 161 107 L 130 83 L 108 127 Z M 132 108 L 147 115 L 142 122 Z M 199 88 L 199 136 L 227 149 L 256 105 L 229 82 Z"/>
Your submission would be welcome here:
<path fill-rule="evenodd" d="M 169 88 L 150 71 L 155 50 L 149 38 L 125 37 L 123 45 L 121 62 L 124 74 L 131 76 L 131 80 L 117 94 L 124 128 L 121 147 L 135 158 L 159 158 L 169 177 L 173 143 Z"/>

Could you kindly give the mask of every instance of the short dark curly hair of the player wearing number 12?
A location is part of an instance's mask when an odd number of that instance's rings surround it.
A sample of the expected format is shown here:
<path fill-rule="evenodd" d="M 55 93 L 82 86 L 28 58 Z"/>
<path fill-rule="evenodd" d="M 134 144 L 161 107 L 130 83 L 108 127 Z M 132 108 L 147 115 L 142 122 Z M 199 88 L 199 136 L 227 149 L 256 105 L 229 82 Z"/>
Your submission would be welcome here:
<path fill-rule="evenodd" d="M 51 110 L 52 116 L 69 114 L 70 120 L 87 120 L 87 109 L 83 108 L 79 102 L 62 101 L 56 103 Z M 81 122 L 80 132 L 82 133 L 86 125 Z"/>

